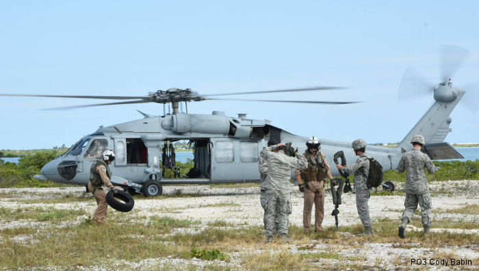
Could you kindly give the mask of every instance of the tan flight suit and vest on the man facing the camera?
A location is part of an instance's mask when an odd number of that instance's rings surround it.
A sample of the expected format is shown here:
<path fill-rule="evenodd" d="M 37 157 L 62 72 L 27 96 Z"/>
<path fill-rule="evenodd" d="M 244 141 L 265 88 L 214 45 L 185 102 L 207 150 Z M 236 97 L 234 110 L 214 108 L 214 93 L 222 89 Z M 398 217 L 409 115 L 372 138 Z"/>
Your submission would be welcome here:
<path fill-rule="evenodd" d="M 295 170 L 295 175 L 301 175 L 301 180 L 309 188 L 305 190 L 302 210 L 302 224 L 305 227 L 305 232 L 311 231 L 311 212 L 313 210 L 314 203 L 314 230 L 321 231 L 321 224 L 324 219 L 324 180 L 326 179 L 326 173 L 329 169 L 329 164 L 326 162 L 324 154 L 319 152 L 320 156 L 315 156 L 309 153 L 303 153 L 308 161 L 308 168 L 306 170 Z M 313 164 L 322 163 L 324 168 L 318 167 Z"/>

